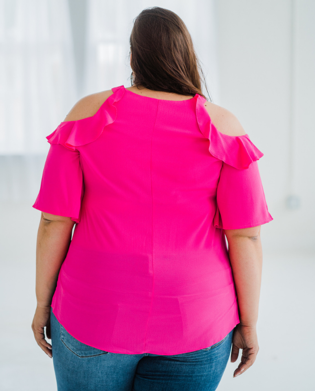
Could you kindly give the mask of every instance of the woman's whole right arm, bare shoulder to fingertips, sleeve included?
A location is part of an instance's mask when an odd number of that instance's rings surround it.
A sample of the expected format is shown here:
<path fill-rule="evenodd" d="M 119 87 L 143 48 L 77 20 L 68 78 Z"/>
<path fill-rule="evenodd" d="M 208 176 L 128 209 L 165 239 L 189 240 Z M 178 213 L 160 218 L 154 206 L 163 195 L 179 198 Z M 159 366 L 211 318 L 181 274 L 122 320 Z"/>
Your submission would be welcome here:
<path fill-rule="evenodd" d="M 243 350 L 241 363 L 234 372 L 237 376 L 253 365 L 259 349 L 256 323 L 262 270 L 260 226 L 273 218 L 257 165 L 262 152 L 250 141 L 233 113 L 211 102 L 205 108 L 220 133 L 220 143 L 213 150 L 223 161 L 214 225 L 224 230 L 228 240 L 236 287 L 240 323 L 234 330 L 232 363 L 236 362 L 239 349 Z M 246 137 L 240 139 L 242 136 Z"/>

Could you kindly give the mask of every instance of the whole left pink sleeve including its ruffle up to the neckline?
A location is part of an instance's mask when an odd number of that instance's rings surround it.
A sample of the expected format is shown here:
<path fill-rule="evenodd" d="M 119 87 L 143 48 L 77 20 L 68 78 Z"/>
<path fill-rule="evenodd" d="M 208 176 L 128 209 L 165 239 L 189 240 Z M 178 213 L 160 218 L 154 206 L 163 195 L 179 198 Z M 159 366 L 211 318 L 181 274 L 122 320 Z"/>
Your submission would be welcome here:
<path fill-rule="evenodd" d="M 77 147 L 95 141 L 103 129 L 117 116 L 116 103 L 124 87 L 112 88 L 97 113 L 78 121 L 61 122 L 47 140 L 50 149 L 46 158 L 39 194 L 33 208 L 52 215 L 71 217 L 80 222 L 84 179 Z"/>

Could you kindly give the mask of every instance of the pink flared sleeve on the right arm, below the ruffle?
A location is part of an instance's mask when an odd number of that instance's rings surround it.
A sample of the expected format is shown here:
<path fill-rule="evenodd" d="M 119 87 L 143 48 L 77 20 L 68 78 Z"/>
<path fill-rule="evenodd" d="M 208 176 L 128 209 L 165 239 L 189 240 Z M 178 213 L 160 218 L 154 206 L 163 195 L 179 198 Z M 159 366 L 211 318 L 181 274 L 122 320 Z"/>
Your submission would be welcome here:
<path fill-rule="evenodd" d="M 239 170 L 223 162 L 217 186 L 214 226 L 222 229 L 256 227 L 273 220 L 261 183 L 257 161 Z"/>

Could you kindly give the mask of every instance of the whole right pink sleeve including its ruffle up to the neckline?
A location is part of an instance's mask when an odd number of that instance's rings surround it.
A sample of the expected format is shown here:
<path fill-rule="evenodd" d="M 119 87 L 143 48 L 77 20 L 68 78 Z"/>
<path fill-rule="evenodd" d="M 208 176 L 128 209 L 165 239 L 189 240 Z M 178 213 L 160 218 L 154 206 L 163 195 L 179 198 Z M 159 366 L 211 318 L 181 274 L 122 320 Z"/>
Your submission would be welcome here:
<path fill-rule="evenodd" d="M 273 220 L 265 199 L 257 160 L 263 153 L 248 134 L 229 136 L 217 130 L 197 95 L 196 116 L 199 129 L 209 139 L 209 152 L 222 160 L 217 185 L 217 210 L 213 224 L 221 229 L 256 227 Z"/>

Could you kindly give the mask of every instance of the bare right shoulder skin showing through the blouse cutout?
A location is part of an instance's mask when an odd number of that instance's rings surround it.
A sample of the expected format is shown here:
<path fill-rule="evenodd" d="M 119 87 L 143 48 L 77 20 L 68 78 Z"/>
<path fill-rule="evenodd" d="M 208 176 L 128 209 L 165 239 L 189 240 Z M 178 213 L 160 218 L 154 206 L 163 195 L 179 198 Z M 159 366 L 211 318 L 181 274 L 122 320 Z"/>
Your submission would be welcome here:
<path fill-rule="evenodd" d="M 204 106 L 210 115 L 212 123 L 219 132 L 228 136 L 242 136 L 246 134 L 242 125 L 231 111 L 212 102 L 205 102 Z"/>

